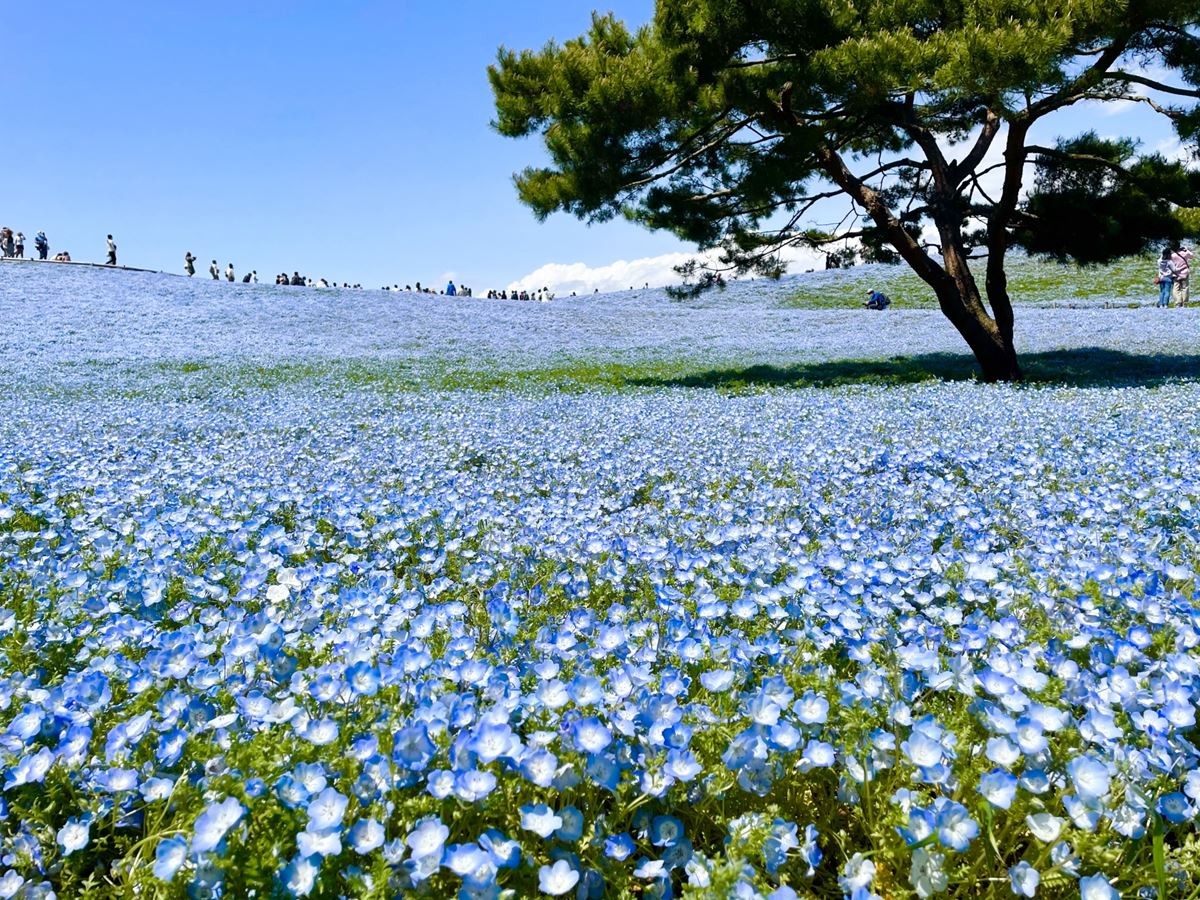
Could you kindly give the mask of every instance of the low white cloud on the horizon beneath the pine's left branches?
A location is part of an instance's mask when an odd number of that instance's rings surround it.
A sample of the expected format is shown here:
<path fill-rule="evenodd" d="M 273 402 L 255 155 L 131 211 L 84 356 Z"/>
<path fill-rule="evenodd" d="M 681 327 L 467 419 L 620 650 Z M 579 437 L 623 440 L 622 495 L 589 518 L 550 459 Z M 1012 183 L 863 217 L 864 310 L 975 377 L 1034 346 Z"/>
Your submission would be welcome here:
<path fill-rule="evenodd" d="M 812 250 L 792 247 L 782 256 L 792 272 L 824 268 L 824 254 Z M 683 281 L 674 268 L 697 258 L 712 264 L 715 263 L 716 253 L 664 253 L 641 259 L 618 259 L 608 265 L 595 266 L 586 263 L 547 263 L 510 283 L 508 290 L 550 288 L 554 294 L 565 296 L 572 292 L 590 294 L 599 289 L 600 293 L 606 293 L 641 288 L 644 284 L 659 288 Z"/>

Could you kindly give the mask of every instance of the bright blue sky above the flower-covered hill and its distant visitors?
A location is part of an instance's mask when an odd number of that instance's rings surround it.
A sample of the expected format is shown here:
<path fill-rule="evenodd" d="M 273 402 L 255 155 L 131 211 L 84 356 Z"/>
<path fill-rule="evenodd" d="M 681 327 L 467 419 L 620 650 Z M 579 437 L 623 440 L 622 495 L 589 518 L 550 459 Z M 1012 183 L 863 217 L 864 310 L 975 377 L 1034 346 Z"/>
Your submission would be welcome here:
<path fill-rule="evenodd" d="M 686 247 L 625 222 L 536 222 L 511 175 L 540 146 L 490 127 L 497 47 L 572 37 L 593 6 L 68 0 L 8 14 L 0 220 L 76 259 L 103 259 L 112 232 L 122 263 L 168 271 L 191 250 L 202 269 L 370 287 L 452 275 L 486 289 L 546 264 L 661 282 L 664 254 Z M 638 24 L 653 0 L 602 8 Z M 1151 146 L 1170 137 L 1138 110 L 1090 115 Z M 610 265 L 635 259 L 649 264 Z"/>

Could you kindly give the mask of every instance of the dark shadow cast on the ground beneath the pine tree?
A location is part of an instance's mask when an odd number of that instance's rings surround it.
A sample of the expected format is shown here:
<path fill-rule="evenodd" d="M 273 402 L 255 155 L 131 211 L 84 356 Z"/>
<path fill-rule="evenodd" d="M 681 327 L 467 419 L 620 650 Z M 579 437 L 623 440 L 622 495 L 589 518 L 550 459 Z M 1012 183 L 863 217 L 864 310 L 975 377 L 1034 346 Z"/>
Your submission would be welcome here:
<path fill-rule="evenodd" d="M 1026 383 L 1076 388 L 1156 386 L 1200 380 L 1200 354 L 1138 354 L 1104 347 L 1026 353 L 1020 356 Z M 978 380 L 974 356 L 925 353 L 875 360 L 835 360 L 792 365 L 714 368 L 668 377 L 630 378 L 629 384 L 658 388 L 833 388 L 851 384 L 918 384 Z"/>

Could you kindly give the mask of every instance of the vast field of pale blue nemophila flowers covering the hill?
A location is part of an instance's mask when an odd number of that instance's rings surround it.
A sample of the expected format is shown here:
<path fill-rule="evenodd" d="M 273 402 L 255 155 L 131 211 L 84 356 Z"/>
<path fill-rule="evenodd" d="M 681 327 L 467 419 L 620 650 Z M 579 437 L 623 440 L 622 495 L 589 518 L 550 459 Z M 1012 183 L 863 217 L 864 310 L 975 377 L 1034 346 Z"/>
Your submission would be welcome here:
<path fill-rule="evenodd" d="M 1200 896 L 1200 383 L 448 389 L 958 350 L 727 294 L 0 271 L 0 898 Z"/>

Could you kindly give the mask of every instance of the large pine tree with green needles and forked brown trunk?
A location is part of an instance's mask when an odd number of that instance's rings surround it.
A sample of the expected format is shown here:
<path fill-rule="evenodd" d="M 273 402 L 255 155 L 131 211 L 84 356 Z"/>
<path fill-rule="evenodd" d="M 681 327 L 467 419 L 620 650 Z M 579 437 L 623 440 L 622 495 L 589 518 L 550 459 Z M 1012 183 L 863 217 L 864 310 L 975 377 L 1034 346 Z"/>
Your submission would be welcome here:
<path fill-rule="evenodd" d="M 902 259 L 985 374 L 1008 378 L 1014 238 L 1084 263 L 1140 253 L 1178 234 L 1170 205 L 1200 190 L 1129 142 L 1036 148 L 1031 127 L 1085 101 L 1148 101 L 1194 146 L 1198 28 L 1195 0 L 656 0 L 637 31 L 594 16 L 562 46 L 502 49 L 488 76 L 497 130 L 548 151 L 516 176 L 539 217 L 623 215 L 720 248 L 737 272 L 778 276 L 794 246 Z M 1039 191 L 1022 210 L 1028 162 Z M 980 181 L 997 168 L 998 191 Z M 840 224 L 814 226 L 839 220 Z M 970 272 L 983 247 L 1000 260 L 995 319 Z"/>

